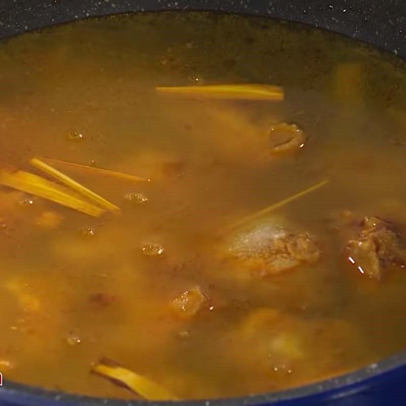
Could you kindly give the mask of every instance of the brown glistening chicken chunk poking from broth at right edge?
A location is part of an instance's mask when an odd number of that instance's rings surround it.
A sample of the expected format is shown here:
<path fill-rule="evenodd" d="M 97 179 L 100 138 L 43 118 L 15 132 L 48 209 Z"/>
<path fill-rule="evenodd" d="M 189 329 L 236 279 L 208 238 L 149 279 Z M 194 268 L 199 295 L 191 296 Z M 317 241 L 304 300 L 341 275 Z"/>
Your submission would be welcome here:
<path fill-rule="evenodd" d="M 393 224 L 378 217 L 365 217 L 348 241 L 346 255 L 361 274 L 381 280 L 392 265 L 406 265 L 406 249 Z"/>

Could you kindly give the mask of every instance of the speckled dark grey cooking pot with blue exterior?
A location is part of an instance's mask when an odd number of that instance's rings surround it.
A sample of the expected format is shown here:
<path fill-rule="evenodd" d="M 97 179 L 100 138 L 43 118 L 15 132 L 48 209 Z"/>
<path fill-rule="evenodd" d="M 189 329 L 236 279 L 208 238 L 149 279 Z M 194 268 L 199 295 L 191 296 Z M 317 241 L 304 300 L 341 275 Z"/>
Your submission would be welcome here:
<path fill-rule="evenodd" d="M 340 32 L 406 58 L 403 0 L 0 0 L 0 38 L 88 17 L 159 10 L 217 10 L 298 21 Z M 354 373 L 312 385 L 240 398 L 184 401 L 179 406 L 404 406 L 405 379 L 406 352 L 403 352 Z M 0 387 L 0 406 L 154 406 L 158 403 L 171 402 L 53 392 L 10 382 L 7 375 Z"/>

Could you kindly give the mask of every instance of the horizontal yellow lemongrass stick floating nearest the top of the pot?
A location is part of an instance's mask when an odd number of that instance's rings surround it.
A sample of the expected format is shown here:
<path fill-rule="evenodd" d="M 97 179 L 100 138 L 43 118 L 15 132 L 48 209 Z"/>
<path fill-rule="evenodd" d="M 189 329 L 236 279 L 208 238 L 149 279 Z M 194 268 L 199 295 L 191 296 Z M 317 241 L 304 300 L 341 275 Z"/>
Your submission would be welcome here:
<path fill-rule="evenodd" d="M 158 86 L 155 89 L 165 93 L 235 100 L 283 100 L 284 97 L 281 87 L 261 84 Z"/>

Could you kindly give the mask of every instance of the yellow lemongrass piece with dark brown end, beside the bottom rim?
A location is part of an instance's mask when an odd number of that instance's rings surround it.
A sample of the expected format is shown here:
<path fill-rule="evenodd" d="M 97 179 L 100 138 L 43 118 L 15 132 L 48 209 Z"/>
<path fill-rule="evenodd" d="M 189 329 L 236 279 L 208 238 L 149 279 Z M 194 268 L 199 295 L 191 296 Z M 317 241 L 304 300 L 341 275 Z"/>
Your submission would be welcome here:
<path fill-rule="evenodd" d="M 110 365 L 105 360 L 101 360 L 93 366 L 92 372 L 117 381 L 147 400 L 179 400 L 173 393 L 148 378 L 122 366 Z"/>

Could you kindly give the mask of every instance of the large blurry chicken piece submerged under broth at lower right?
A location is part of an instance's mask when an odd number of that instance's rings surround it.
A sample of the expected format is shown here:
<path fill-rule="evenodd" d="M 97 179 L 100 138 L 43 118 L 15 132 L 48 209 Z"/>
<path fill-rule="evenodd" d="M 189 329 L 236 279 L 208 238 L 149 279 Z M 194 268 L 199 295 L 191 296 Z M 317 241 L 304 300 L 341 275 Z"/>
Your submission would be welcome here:
<path fill-rule="evenodd" d="M 348 366 L 347 354 L 357 353 L 365 341 L 346 320 L 303 319 L 278 309 L 259 308 L 228 331 L 219 344 L 239 370 L 265 381 L 272 374 L 278 387 L 286 387 L 341 373 Z"/>

